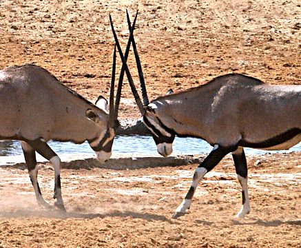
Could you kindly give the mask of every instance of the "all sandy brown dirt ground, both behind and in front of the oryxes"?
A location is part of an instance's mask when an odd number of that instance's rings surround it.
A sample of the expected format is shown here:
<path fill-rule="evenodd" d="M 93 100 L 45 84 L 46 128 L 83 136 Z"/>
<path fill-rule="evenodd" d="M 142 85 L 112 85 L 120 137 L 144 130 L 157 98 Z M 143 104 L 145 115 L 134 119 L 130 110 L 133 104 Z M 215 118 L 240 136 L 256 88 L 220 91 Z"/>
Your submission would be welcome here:
<path fill-rule="evenodd" d="M 0 1 L 0 68 L 36 63 L 87 99 L 108 97 L 114 46 L 108 14 L 125 47 L 126 8 L 132 18 L 139 10 L 135 38 L 149 99 L 230 72 L 301 84 L 297 0 Z M 129 68 L 137 79 L 132 56 Z M 120 116 L 139 117 L 127 83 Z M 208 174 L 179 220 L 171 216 L 196 164 L 63 169 L 68 214 L 37 207 L 26 170 L 3 168 L 0 247 L 301 247 L 300 153 L 248 156 L 248 163 L 245 220 L 233 218 L 241 199 L 230 156 Z M 53 171 L 40 167 L 41 190 L 53 203 Z"/>

